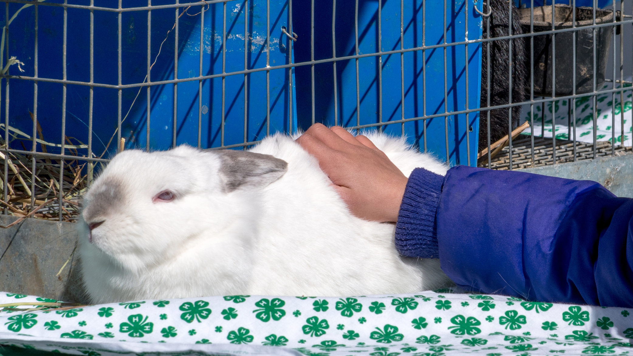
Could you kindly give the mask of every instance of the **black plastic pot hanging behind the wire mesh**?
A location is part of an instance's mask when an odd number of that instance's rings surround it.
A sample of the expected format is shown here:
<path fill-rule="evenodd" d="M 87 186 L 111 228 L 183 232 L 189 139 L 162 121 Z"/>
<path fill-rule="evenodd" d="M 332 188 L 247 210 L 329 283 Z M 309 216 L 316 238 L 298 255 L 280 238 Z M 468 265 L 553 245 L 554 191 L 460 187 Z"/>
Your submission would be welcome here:
<path fill-rule="evenodd" d="M 534 32 L 552 30 L 552 6 L 534 8 Z M 572 6 L 555 5 L 555 30 L 572 28 Z M 525 34 L 530 33 L 530 9 L 520 9 L 521 25 Z M 593 9 L 576 8 L 575 27 L 586 27 L 593 23 Z M 596 9 L 596 24 L 613 21 L 613 11 Z M 605 83 L 605 70 L 608 59 L 613 27 L 596 27 L 596 38 L 592 27 L 576 30 L 576 91 L 575 94 L 593 92 L 594 49 L 596 46 L 596 90 Z M 552 60 L 552 34 L 534 36 L 534 95 L 552 96 L 552 73 L 556 65 L 556 96 L 573 94 L 573 32 L 556 34 L 556 62 Z M 530 68 L 530 37 L 527 41 L 527 67 Z M 530 80 L 527 80 L 530 92 Z"/>

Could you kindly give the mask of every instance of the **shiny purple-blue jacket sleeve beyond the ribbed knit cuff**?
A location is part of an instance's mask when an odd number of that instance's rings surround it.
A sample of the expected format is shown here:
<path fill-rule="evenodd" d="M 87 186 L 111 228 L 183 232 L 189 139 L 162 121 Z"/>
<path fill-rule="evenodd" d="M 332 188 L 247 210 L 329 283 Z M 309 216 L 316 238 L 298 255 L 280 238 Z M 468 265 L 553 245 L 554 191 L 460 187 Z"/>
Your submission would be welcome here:
<path fill-rule="evenodd" d="M 435 221 L 442 270 L 467 290 L 633 307 L 633 199 L 594 181 L 457 166 Z"/>

